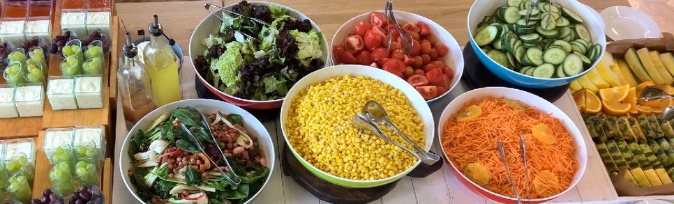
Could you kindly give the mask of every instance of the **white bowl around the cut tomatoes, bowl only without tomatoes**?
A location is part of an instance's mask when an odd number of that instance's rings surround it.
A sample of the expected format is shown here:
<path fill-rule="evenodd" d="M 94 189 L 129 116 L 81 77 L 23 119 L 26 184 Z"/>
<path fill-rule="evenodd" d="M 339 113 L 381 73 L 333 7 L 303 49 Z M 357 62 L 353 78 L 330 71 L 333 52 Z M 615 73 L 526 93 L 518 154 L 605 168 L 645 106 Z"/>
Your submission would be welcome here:
<path fill-rule="evenodd" d="M 384 13 L 383 10 L 377 12 Z M 461 47 L 458 46 L 458 42 L 456 42 L 454 36 L 451 36 L 449 31 L 440 26 L 440 24 L 437 24 L 436 22 L 433 22 L 432 20 L 423 17 L 421 15 L 408 13 L 400 10 L 394 10 L 394 15 L 396 15 L 396 19 L 398 20 L 398 23 L 400 23 L 400 26 L 403 26 L 405 22 L 414 22 L 414 23 L 425 22 L 430 27 L 430 33 L 432 33 L 432 35 L 435 36 L 437 40 L 437 42 L 435 43 L 437 44 L 440 42 L 446 45 L 447 48 L 449 48 L 449 52 L 447 52 L 447 55 L 443 56 L 442 58 L 439 58 L 439 60 L 444 62 L 445 65 L 454 69 L 454 78 L 451 79 L 451 86 L 449 86 L 449 90 L 447 90 L 447 92 L 438 95 L 432 100 L 428 100 L 429 104 L 437 102 L 438 100 L 440 100 L 440 98 L 447 95 L 447 93 L 449 93 L 452 89 L 454 89 L 454 87 L 456 87 L 456 84 L 458 84 L 458 81 L 460 81 L 461 76 L 463 75 L 462 49 Z M 333 36 L 330 45 L 331 46 L 341 45 L 344 39 L 354 32 L 354 26 L 356 26 L 359 22 L 369 22 L 369 21 L 370 21 L 370 12 L 357 15 L 356 17 L 352 17 L 347 22 L 342 24 L 342 26 L 340 26 L 339 29 L 337 29 L 337 33 L 335 33 L 335 36 Z M 332 53 L 330 54 L 330 61 L 333 63 L 335 62 L 335 56 Z"/>

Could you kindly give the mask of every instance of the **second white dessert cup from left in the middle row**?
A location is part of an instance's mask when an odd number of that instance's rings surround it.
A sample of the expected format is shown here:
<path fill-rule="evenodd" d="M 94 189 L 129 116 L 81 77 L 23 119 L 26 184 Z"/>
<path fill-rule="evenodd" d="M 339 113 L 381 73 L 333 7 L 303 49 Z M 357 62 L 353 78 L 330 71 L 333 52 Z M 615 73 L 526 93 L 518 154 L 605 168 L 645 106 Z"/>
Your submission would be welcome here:
<path fill-rule="evenodd" d="M 43 116 L 45 91 L 42 84 L 22 84 L 17 86 L 16 109 L 21 117 Z"/>

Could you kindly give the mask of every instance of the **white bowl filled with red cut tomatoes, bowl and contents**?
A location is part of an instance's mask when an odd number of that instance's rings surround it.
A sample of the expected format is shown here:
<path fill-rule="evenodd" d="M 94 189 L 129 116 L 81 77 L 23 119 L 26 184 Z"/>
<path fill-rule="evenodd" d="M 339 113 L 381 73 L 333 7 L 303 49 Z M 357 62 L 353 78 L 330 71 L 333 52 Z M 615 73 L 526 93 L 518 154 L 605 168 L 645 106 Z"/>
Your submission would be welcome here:
<path fill-rule="evenodd" d="M 345 22 L 332 38 L 335 64 L 370 65 L 387 70 L 412 85 L 428 104 L 456 87 L 463 74 L 463 53 L 458 42 L 440 24 L 405 11 L 394 10 L 404 32 L 414 39 L 412 52 L 400 47 L 398 30 L 389 25 L 384 11 L 373 11 Z M 393 38 L 387 50 L 387 35 Z"/>

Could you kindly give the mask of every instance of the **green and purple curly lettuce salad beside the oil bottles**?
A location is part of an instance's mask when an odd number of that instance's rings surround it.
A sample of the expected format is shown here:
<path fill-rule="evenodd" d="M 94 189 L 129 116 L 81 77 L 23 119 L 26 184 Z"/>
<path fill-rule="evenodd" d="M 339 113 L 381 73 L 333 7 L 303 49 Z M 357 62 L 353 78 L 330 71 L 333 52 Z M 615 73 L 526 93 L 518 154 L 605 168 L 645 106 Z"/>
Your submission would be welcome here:
<path fill-rule="evenodd" d="M 323 68 L 322 33 L 308 19 L 294 19 L 285 8 L 246 1 L 232 11 L 269 26 L 223 13 L 220 32 L 202 39 L 207 49 L 197 56 L 195 66 L 220 91 L 248 100 L 276 100 L 301 77 Z"/>

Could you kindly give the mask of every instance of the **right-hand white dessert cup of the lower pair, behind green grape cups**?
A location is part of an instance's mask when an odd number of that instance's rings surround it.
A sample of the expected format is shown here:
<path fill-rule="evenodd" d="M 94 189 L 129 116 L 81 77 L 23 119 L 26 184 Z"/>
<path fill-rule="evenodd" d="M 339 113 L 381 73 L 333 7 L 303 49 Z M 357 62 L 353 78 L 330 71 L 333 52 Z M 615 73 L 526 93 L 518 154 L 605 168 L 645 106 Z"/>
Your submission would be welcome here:
<path fill-rule="evenodd" d="M 78 161 L 84 158 L 105 159 L 105 133 L 103 126 L 75 127 L 73 146 Z"/>

